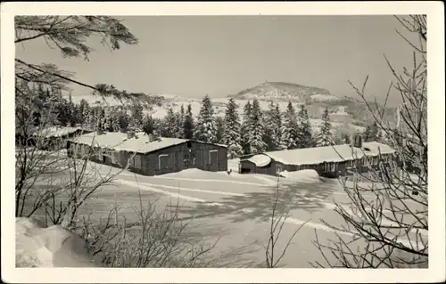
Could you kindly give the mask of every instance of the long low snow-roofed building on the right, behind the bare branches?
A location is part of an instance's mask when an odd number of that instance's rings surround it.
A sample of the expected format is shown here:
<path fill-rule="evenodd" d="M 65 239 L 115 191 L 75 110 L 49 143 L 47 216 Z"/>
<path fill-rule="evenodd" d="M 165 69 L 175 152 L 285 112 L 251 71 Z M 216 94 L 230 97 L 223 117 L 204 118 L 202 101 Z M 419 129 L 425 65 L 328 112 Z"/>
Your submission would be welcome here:
<path fill-rule="evenodd" d="M 346 174 L 351 167 L 368 168 L 382 161 L 388 163 L 395 153 L 395 150 L 383 143 L 359 143 L 361 145 L 343 144 L 245 155 L 240 158 L 239 171 L 277 175 L 283 171 L 313 169 L 320 175 L 338 176 Z"/>

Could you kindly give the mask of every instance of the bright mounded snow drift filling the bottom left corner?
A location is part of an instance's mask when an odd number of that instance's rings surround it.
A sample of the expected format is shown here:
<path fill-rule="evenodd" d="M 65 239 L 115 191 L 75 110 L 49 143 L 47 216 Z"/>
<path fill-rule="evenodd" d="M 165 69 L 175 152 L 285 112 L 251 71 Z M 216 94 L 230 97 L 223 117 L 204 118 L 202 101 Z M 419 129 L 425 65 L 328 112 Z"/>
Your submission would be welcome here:
<path fill-rule="evenodd" d="M 16 267 L 98 267 L 87 243 L 59 225 L 29 218 L 15 221 Z"/>

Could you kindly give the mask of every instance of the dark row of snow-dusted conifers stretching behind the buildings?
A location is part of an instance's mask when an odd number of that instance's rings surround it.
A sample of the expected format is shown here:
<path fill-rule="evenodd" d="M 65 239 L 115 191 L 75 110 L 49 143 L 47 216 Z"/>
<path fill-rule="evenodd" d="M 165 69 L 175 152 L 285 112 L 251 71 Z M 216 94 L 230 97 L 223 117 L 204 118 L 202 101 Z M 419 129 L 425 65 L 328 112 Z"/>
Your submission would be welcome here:
<path fill-rule="evenodd" d="M 58 90 L 44 89 L 37 85 L 33 112 L 35 126 L 51 113 L 51 125 L 82 126 L 89 130 L 108 132 L 143 131 L 162 137 L 196 139 L 204 142 L 227 144 L 229 158 L 269 150 L 292 150 L 299 148 L 328 146 L 350 143 L 349 134 L 334 135 L 329 111 L 322 113 L 319 131 L 313 134 L 308 110 L 301 104 L 296 110 L 290 101 L 286 110 L 270 101 L 268 110 L 261 110 L 260 101 L 248 101 L 243 109 L 233 98 L 227 101 L 224 118 L 215 115 L 211 98 L 202 99 L 201 110 L 194 116 L 190 104 L 181 105 L 179 110 L 168 108 L 163 118 L 153 118 L 145 113 L 145 107 L 134 102 L 128 105 L 108 106 L 89 104 L 82 99 L 79 103 L 62 97 Z M 367 127 L 365 141 L 381 139 L 376 125 Z"/>

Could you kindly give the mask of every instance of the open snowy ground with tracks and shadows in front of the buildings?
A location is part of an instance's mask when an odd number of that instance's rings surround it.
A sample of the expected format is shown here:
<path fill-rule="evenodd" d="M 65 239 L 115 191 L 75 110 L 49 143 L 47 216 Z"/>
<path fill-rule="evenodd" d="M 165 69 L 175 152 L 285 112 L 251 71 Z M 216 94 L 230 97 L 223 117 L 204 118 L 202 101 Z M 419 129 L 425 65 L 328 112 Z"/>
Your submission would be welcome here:
<path fill-rule="evenodd" d="M 92 164 L 101 172 L 110 167 Z M 157 199 L 157 207 L 181 205 L 181 218 L 189 222 L 194 233 L 210 242 L 219 239 L 211 251 L 213 267 L 261 267 L 265 264 L 268 228 L 272 199 L 277 190 L 277 178 L 261 174 L 237 174 L 238 161 L 230 160 L 227 172 L 203 172 L 189 169 L 174 174 L 144 176 L 123 172 L 112 185 L 104 186 L 90 199 L 81 214 L 93 213 L 105 217 L 111 207 L 119 205 L 128 222 L 136 221 L 135 208 L 139 204 L 138 189 L 144 200 Z M 118 171 L 114 169 L 113 171 Z M 321 179 L 314 174 L 281 178 L 279 210 L 290 207 L 277 254 L 302 223 L 307 222 L 295 236 L 282 259 L 285 267 L 311 267 L 309 262 L 321 256 L 312 245 L 315 231 L 321 241 L 334 238 L 334 231 L 321 222 L 342 224 L 334 213 L 334 201 L 348 198 L 336 180 Z M 372 197 L 370 197 L 372 198 Z M 290 204 L 290 201 L 291 204 Z M 350 239 L 351 234 L 341 234 Z"/>

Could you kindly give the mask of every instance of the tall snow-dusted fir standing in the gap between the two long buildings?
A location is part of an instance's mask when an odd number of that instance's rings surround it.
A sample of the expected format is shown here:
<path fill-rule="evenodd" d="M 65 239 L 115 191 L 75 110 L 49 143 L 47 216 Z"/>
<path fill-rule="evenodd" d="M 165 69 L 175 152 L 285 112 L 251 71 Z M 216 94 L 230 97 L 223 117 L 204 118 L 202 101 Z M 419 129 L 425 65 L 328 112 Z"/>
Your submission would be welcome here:
<path fill-rule="evenodd" d="M 227 145 L 227 158 L 237 158 L 243 154 L 240 126 L 237 105 L 235 100 L 230 98 L 225 111 L 225 131 L 223 133 L 223 143 Z"/>

